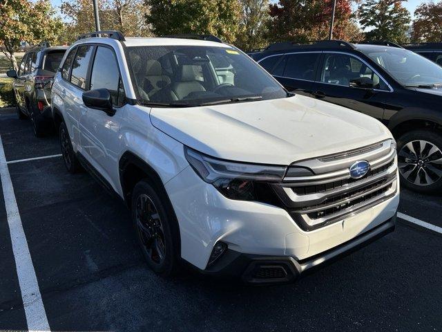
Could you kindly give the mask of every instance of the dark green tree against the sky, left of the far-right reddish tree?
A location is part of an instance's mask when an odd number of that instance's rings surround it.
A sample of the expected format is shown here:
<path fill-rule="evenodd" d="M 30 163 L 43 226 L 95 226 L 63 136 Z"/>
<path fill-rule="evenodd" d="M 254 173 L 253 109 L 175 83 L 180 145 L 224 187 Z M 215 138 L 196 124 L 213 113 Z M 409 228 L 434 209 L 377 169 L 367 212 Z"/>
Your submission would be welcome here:
<path fill-rule="evenodd" d="M 365 0 L 358 7 L 359 24 L 373 41 L 407 42 L 410 12 L 402 6 L 406 0 Z"/>

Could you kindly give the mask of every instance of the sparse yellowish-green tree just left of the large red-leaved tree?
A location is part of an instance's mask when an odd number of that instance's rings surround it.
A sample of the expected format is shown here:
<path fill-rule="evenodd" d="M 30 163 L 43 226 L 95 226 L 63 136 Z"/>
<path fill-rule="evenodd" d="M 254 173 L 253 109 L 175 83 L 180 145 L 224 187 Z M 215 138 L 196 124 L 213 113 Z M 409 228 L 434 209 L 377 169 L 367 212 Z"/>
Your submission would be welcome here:
<path fill-rule="evenodd" d="M 253 50 L 267 46 L 269 0 L 240 0 L 242 15 L 236 46 Z"/>

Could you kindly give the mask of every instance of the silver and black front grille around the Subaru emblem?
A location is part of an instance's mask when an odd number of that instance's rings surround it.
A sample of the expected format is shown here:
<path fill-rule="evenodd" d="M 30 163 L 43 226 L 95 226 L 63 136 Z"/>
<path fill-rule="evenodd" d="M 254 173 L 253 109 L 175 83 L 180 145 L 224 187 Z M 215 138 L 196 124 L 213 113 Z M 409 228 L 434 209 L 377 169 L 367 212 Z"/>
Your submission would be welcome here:
<path fill-rule="evenodd" d="M 314 175 L 286 178 L 275 187 L 301 228 L 329 225 L 394 196 L 397 162 L 393 140 L 354 151 L 295 163 L 293 166 L 311 169 Z M 349 167 L 358 160 L 367 160 L 370 170 L 363 178 L 354 179 Z"/>

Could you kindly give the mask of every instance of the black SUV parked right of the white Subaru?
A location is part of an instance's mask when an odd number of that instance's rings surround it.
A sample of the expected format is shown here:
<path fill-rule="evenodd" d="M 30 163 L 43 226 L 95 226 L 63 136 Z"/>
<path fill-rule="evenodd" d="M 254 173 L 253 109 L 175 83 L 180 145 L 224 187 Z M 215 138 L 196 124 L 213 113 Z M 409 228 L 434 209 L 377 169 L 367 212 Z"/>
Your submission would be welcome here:
<path fill-rule="evenodd" d="M 442 67 L 401 47 L 322 41 L 251 54 L 289 91 L 373 116 L 398 144 L 405 187 L 442 189 Z"/>

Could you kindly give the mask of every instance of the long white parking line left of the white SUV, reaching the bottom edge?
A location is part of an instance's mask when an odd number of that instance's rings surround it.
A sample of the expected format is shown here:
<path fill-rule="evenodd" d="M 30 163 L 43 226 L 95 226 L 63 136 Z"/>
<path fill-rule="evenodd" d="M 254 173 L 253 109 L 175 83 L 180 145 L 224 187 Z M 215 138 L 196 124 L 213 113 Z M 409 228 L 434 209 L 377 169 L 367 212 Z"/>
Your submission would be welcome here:
<path fill-rule="evenodd" d="M 50 331 L 48 317 L 41 299 L 37 276 L 30 257 L 28 241 L 21 224 L 19 208 L 15 199 L 14 188 L 10 178 L 8 163 L 6 163 L 3 142 L 0 136 L 0 179 L 5 199 L 6 216 L 8 218 L 9 232 L 14 252 L 17 277 L 25 310 L 26 322 L 30 331 Z"/>

